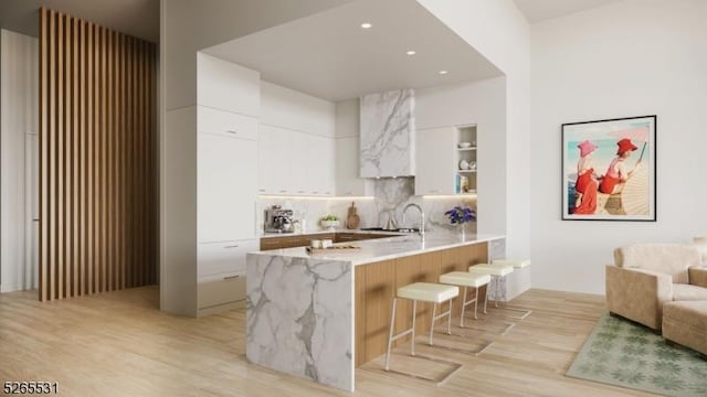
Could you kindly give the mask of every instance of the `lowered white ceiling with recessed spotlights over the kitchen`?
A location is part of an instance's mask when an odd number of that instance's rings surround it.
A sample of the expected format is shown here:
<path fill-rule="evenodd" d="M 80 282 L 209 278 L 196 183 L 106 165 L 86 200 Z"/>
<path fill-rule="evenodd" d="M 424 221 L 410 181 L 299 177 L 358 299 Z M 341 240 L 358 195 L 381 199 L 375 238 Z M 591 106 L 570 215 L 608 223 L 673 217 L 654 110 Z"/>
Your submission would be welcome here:
<path fill-rule="evenodd" d="M 373 26 L 363 30 L 362 22 Z M 408 50 L 416 54 L 408 56 Z M 503 74 L 410 0 L 360 0 L 203 51 L 333 101 Z"/>

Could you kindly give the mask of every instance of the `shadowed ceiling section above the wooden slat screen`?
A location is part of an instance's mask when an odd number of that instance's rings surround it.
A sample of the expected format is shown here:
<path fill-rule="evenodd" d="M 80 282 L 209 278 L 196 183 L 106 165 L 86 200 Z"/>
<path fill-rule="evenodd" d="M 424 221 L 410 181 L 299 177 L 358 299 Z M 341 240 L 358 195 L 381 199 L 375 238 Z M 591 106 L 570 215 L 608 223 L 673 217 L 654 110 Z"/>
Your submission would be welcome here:
<path fill-rule="evenodd" d="M 0 28 L 36 36 L 40 7 L 159 42 L 159 0 L 0 0 Z"/>

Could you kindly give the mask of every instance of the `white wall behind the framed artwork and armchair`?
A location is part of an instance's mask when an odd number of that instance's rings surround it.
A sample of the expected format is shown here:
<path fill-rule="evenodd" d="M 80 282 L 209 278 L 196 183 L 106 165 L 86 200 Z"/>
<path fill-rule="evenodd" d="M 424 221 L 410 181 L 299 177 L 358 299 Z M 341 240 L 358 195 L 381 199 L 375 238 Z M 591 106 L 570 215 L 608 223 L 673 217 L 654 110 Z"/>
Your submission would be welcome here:
<path fill-rule="evenodd" d="M 536 287 L 603 293 L 615 247 L 707 233 L 705 15 L 703 0 L 627 0 L 532 26 Z M 560 125 L 654 114 L 657 222 L 560 221 Z"/>

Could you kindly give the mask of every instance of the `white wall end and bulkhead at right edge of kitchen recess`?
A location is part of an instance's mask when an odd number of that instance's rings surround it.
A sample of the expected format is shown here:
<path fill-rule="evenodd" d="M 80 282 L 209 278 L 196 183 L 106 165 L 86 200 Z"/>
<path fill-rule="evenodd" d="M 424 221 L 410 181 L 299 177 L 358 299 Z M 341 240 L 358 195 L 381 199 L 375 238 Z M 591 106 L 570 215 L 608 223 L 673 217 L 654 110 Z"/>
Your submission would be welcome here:
<path fill-rule="evenodd" d="M 507 254 L 530 256 L 534 189 L 530 129 L 530 26 L 511 0 L 418 0 L 506 75 L 505 155 L 494 163 L 506 191 L 489 197 L 506 207 Z M 504 138 L 498 138 L 498 143 Z M 503 204 L 505 202 L 505 204 Z"/>

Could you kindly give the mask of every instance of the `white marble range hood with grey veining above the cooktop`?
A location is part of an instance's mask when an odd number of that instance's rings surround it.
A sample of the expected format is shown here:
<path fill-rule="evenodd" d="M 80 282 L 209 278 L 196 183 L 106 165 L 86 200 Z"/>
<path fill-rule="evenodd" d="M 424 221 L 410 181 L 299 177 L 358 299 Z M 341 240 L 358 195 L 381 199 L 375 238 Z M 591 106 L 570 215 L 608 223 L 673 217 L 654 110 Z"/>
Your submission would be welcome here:
<path fill-rule="evenodd" d="M 360 107 L 360 176 L 413 176 L 414 89 L 365 95 Z"/>

